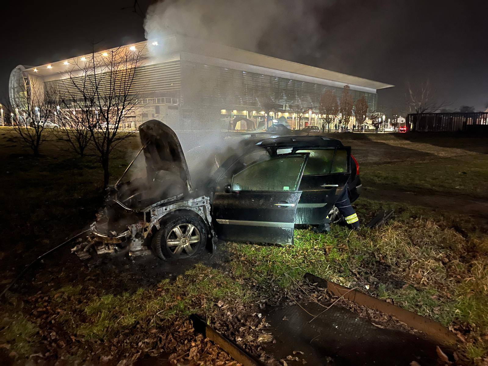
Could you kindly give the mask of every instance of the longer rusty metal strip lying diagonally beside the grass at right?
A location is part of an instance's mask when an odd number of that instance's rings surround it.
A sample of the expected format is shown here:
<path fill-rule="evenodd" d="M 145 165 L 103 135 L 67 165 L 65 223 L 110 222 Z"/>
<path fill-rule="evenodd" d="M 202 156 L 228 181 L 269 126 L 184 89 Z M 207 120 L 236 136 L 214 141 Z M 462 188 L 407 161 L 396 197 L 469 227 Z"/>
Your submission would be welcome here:
<path fill-rule="evenodd" d="M 400 306 L 387 303 L 386 301 L 369 296 L 361 291 L 351 290 L 347 287 L 327 281 L 310 273 L 305 273 L 305 279 L 326 288 L 335 296 L 344 296 L 345 299 L 358 305 L 363 305 L 369 307 L 370 309 L 382 311 L 388 315 L 392 315 L 408 326 L 420 330 L 428 337 L 434 339 L 442 345 L 453 345 L 457 341 L 456 335 L 450 332 L 449 329 L 447 329 L 444 325 L 424 316 L 412 313 L 411 311 L 408 311 Z"/>

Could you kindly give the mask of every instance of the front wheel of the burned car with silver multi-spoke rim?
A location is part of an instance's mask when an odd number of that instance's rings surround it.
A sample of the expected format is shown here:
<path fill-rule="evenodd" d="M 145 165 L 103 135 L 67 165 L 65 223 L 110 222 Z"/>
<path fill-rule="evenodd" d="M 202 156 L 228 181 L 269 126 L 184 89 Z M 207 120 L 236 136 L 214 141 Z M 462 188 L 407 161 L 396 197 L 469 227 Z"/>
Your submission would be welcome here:
<path fill-rule="evenodd" d="M 151 246 L 161 259 L 179 261 L 198 257 L 206 246 L 207 225 L 194 214 L 169 214 L 160 225 Z"/>

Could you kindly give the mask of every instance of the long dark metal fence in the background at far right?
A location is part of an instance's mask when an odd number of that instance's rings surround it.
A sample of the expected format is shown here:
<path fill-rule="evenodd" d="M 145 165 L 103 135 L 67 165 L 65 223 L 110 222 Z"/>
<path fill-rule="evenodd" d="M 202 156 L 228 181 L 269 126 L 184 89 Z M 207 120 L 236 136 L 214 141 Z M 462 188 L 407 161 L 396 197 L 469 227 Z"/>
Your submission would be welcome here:
<path fill-rule="evenodd" d="M 470 126 L 486 126 L 488 112 L 476 113 L 411 113 L 407 115 L 407 126 L 412 131 L 467 131 Z"/>

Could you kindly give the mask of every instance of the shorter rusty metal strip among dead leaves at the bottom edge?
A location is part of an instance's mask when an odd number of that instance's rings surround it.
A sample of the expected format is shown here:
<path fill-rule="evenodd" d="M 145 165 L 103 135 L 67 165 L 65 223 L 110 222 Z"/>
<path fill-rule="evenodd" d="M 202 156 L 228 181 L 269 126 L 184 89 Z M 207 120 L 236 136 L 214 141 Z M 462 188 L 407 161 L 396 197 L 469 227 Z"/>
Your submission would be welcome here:
<path fill-rule="evenodd" d="M 205 320 L 197 314 L 192 314 L 190 320 L 197 333 L 202 333 L 204 337 L 210 339 L 217 346 L 221 347 L 230 357 L 243 366 L 263 366 L 256 357 L 244 350 L 237 343 L 227 338 L 224 334 L 213 329 Z"/>

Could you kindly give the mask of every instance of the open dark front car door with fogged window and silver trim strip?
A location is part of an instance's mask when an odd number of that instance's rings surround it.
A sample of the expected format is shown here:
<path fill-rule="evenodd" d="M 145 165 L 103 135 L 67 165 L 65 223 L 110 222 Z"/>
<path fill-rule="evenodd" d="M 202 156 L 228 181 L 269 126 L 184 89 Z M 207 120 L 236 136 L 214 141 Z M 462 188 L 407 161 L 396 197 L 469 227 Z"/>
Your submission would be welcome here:
<path fill-rule="evenodd" d="M 231 181 L 224 189 L 217 188 L 212 201 L 219 239 L 293 244 L 301 196 L 298 187 L 308 155 L 276 155 L 233 172 Z"/>

